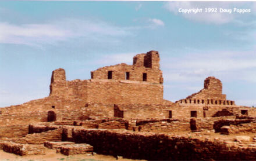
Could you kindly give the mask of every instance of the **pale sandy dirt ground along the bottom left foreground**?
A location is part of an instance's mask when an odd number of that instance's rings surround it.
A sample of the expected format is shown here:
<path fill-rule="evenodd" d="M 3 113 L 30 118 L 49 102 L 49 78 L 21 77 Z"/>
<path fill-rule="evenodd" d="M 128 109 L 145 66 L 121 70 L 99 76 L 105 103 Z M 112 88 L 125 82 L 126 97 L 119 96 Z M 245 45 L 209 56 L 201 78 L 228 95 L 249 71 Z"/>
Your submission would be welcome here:
<path fill-rule="evenodd" d="M 0 150 L 0 161 L 98 161 L 98 160 L 116 160 L 113 156 L 109 155 L 90 155 L 90 154 L 83 154 L 83 155 L 72 155 L 72 156 L 66 156 L 62 155 L 61 153 L 56 153 L 56 150 L 47 149 L 47 155 L 31 155 L 31 156 L 19 156 L 15 155 L 13 153 L 7 153 Z M 122 161 L 131 161 L 133 159 L 124 159 L 122 157 L 119 157 L 118 160 Z"/>

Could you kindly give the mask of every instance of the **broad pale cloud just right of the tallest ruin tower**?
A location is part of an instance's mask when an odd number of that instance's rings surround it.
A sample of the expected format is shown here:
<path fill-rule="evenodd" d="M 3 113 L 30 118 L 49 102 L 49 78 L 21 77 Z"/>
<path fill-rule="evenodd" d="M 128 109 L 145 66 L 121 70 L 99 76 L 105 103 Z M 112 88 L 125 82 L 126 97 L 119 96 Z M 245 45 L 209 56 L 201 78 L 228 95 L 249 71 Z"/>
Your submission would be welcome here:
<path fill-rule="evenodd" d="M 163 60 L 166 81 L 200 81 L 207 76 L 256 82 L 254 52 L 211 52 L 183 54 Z"/>

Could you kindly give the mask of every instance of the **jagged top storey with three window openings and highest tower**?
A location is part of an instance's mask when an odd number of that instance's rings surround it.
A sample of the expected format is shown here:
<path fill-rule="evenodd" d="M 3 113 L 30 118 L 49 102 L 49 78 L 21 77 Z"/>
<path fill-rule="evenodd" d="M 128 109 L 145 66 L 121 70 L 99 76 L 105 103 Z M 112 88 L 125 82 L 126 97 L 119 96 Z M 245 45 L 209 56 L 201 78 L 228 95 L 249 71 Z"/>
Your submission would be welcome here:
<path fill-rule="evenodd" d="M 163 83 L 159 69 L 159 53 L 150 51 L 133 57 L 133 65 L 125 63 L 98 68 L 91 72 L 91 79 L 114 79 Z"/>

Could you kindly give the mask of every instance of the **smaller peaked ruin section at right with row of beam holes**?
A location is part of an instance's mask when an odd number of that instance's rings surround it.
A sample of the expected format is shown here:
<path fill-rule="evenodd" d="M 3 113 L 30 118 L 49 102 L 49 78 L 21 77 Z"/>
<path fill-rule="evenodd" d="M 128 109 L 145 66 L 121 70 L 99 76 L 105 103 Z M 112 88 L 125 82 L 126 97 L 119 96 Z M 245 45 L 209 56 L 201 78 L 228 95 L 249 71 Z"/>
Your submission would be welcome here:
<path fill-rule="evenodd" d="M 222 83 L 219 79 L 210 76 L 204 81 L 204 89 L 191 94 L 185 99 L 176 101 L 175 105 L 169 108 L 172 111 L 172 118 L 207 118 L 214 116 L 239 115 L 241 110 L 247 110 L 246 115 L 255 116 L 255 109 L 241 107 L 232 100 L 226 100 L 226 95 L 222 94 Z M 223 111 L 224 110 L 224 111 Z M 229 111 L 227 114 L 226 111 Z M 196 115 L 193 115 L 192 112 Z"/>

